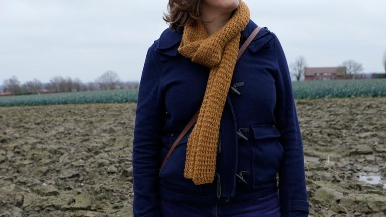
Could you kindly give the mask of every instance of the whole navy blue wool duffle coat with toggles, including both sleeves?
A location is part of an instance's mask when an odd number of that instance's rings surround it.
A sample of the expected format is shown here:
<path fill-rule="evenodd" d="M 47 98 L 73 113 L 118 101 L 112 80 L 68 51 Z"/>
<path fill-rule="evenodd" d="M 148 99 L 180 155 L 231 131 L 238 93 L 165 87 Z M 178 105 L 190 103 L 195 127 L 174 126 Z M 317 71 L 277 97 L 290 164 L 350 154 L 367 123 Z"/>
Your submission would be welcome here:
<path fill-rule="evenodd" d="M 240 46 L 256 26 L 249 21 Z M 133 140 L 134 216 L 159 216 L 159 197 L 215 204 L 277 190 L 282 217 L 307 216 L 303 144 L 291 76 L 280 42 L 267 28 L 235 65 L 220 122 L 214 182 L 195 185 L 183 177 L 193 127 L 159 170 L 172 143 L 200 108 L 210 71 L 178 53 L 181 36 L 166 29 L 146 55 Z"/>

